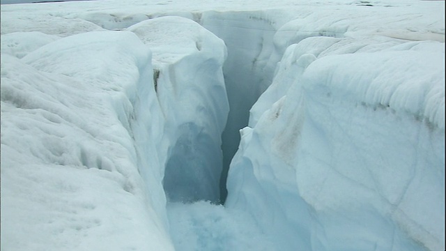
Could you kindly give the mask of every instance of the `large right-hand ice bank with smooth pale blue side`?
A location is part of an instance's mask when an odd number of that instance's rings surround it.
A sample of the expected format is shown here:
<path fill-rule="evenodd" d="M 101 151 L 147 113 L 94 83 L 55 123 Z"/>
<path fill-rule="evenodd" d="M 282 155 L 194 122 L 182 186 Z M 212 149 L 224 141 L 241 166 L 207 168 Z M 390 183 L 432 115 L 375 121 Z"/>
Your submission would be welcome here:
<path fill-rule="evenodd" d="M 226 206 L 279 249 L 445 248 L 444 43 L 365 41 L 291 45 L 240 132 Z"/>

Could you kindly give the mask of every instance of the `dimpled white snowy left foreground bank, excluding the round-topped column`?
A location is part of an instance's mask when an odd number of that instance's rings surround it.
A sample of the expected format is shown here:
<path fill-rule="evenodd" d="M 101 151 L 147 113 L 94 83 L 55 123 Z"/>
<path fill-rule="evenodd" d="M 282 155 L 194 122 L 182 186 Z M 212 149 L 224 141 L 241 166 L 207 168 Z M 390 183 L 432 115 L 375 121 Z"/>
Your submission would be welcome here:
<path fill-rule="evenodd" d="M 173 249 L 133 139 L 150 50 L 107 31 L 1 60 L 2 249 Z"/>

